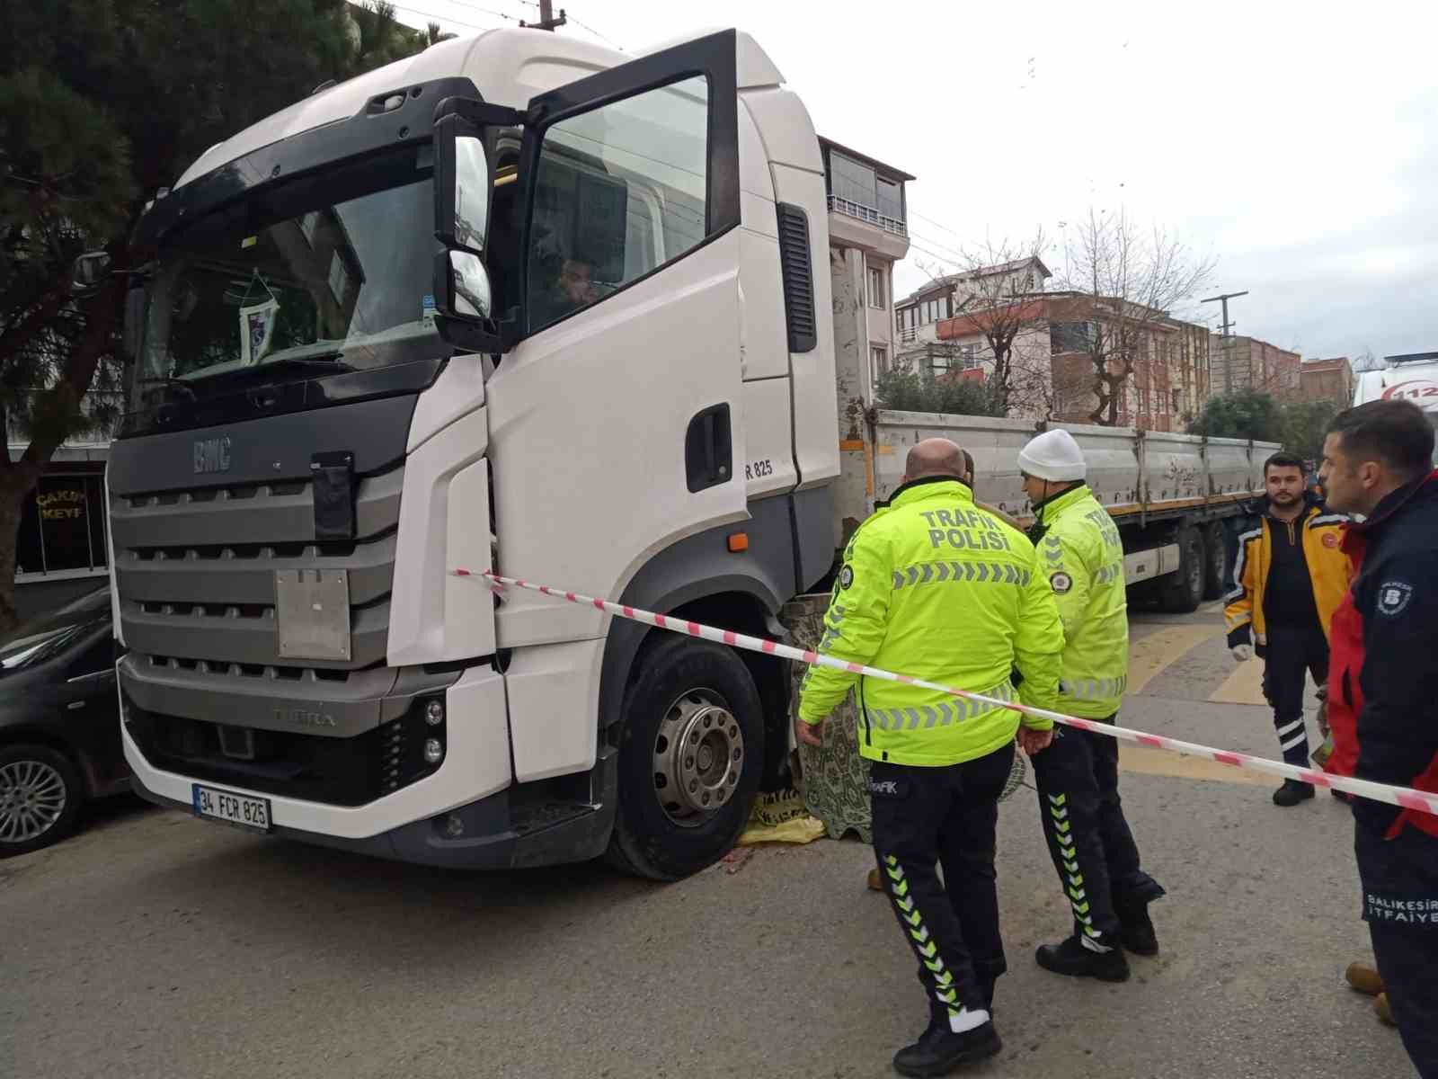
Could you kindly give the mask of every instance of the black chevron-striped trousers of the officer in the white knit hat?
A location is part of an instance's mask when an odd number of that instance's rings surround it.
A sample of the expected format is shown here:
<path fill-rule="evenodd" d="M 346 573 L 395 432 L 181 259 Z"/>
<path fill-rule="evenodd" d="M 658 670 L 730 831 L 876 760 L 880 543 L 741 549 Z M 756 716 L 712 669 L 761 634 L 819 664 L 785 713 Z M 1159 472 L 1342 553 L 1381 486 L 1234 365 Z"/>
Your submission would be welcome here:
<path fill-rule="evenodd" d="M 1073 909 L 1074 935 L 1113 947 L 1120 911 L 1162 895 L 1139 865 L 1139 846 L 1123 816 L 1119 744 L 1061 727 L 1032 765 L 1044 839 Z"/>

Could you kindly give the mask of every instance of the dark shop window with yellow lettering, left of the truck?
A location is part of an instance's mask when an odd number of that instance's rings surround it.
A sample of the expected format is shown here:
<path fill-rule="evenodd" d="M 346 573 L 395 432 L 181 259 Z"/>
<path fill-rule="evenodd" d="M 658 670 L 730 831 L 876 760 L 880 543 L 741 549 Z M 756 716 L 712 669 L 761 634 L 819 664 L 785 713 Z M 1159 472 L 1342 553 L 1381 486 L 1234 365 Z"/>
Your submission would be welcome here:
<path fill-rule="evenodd" d="M 106 565 L 104 478 L 98 473 L 42 476 L 20 514 L 16 577 L 89 573 Z"/>

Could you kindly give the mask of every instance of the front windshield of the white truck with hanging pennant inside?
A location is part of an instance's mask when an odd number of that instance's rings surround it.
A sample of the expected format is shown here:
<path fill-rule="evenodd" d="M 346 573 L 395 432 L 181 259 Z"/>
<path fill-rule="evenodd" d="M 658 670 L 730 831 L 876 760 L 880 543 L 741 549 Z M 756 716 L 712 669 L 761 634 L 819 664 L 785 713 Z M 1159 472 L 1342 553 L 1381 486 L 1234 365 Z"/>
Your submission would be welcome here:
<path fill-rule="evenodd" d="M 313 377 L 433 352 L 431 167 L 431 147 L 411 145 L 262 188 L 168 239 L 148 282 L 137 406 L 177 381 L 196 394 L 213 375 Z"/>

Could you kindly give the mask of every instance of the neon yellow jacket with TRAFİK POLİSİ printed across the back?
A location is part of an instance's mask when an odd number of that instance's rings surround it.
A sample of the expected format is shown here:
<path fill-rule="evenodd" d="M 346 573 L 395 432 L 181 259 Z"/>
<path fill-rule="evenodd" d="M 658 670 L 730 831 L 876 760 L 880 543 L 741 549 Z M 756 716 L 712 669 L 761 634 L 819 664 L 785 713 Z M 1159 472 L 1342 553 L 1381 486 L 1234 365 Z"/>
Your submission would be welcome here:
<path fill-rule="evenodd" d="M 1054 708 L 1063 629 L 1034 545 L 974 505 L 956 479 L 919 479 L 864 521 L 824 616 L 820 652 L 1004 701 Z M 1014 739 L 1020 714 L 932 689 L 810 668 L 804 722 L 821 722 L 857 683 L 858 751 L 876 761 L 959 764 Z M 1024 716 L 1047 729 L 1048 719 Z"/>

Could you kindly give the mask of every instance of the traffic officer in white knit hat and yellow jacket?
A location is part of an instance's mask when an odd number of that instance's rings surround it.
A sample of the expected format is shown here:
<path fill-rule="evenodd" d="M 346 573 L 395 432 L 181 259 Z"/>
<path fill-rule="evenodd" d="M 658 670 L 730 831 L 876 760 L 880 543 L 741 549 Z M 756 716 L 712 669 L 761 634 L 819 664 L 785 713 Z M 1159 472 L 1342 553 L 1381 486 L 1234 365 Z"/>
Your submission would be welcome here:
<path fill-rule="evenodd" d="M 1030 537 L 1064 627 L 1057 711 L 1113 722 L 1129 682 L 1119 529 L 1084 483 L 1083 453 L 1068 432 L 1032 439 L 1020 452 L 1018 468 L 1034 505 Z M 1038 965 L 1125 981 L 1125 947 L 1140 955 L 1159 950 L 1148 905 L 1163 889 L 1139 868 L 1123 817 L 1119 745 L 1107 735 L 1064 728 L 1031 757 L 1044 837 L 1074 916 L 1073 935 L 1043 945 Z"/>

